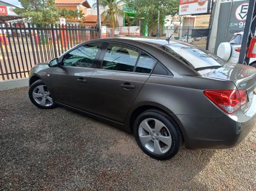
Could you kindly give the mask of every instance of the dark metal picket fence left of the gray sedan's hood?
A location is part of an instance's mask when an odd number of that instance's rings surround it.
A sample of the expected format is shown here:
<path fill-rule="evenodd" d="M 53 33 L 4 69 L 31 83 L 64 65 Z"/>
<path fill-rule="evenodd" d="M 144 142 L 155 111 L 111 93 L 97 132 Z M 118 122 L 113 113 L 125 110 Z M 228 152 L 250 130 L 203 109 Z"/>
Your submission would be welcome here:
<path fill-rule="evenodd" d="M 98 38 L 96 26 L 0 23 L 0 80 L 27 77 L 36 63 Z"/>

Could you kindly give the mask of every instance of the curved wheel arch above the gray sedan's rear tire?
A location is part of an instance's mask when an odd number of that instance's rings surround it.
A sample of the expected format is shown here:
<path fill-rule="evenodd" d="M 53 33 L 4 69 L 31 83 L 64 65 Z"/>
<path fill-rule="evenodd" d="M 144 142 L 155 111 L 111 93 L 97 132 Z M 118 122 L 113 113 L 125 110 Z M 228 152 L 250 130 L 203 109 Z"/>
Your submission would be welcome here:
<path fill-rule="evenodd" d="M 129 124 L 128 127 L 129 127 L 130 132 L 133 133 L 133 124 L 134 124 L 136 117 L 138 117 L 142 112 L 149 110 L 149 109 L 160 110 L 160 111 L 166 113 L 167 115 L 169 115 L 174 120 L 174 122 L 177 123 L 177 126 L 180 129 L 183 141 L 186 140 L 186 132 L 185 132 L 184 126 L 181 123 L 181 121 L 179 120 L 179 118 L 168 108 L 166 108 L 163 105 L 157 104 L 157 103 L 141 104 L 132 109 L 132 111 L 130 112 L 129 117 L 128 117 L 128 124 Z"/>

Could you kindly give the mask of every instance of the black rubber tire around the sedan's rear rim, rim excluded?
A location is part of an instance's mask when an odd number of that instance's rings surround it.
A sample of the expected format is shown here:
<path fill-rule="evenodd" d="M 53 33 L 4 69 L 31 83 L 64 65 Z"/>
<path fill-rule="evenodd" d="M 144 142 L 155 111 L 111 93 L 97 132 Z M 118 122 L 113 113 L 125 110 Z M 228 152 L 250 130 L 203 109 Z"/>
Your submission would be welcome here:
<path fill-rule="evenodd" d="M 172 144 L 166 153 L 155 154 L 155 153 L 147 150 L 141 144 L 140 139 L 139 139 L 139 125 L 143 120 L 145 120 L 147 118 L 154 118 L 158 121 L 161 121 L 168 128 L 170 136 L 172 138 Z M 177 124 L 174 122 L 174 120 L 168 114 L 166 114 L 160 110 L 156 110 L 156 109 L 147 110 L 147 111 L 143 112 L 142 114 L 140 114 L 136 118 L 136 120 L 134 122 L 134 135 L 135 135 L 136 142 L 138 143 L 141 150 L 143 150 L 143 152 L 146 153 L 148 156 L 155 158 L 157 160 L 168 160 L 168 159 L 174 157 L 175 154 L 178 153 L 180 145 L 183 142 L 183 138 L 182 138 L 180 129 L 177 126 Z"/>

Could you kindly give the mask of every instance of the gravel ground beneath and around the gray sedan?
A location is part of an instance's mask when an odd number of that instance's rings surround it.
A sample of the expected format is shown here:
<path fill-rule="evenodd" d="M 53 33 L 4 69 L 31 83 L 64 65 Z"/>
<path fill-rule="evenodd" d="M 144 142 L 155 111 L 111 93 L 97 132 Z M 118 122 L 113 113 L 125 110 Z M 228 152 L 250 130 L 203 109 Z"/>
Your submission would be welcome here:
<path fill-rule="evenodd" d="M 235 148 L 157 161 L 131 134 L 0 91 L 0 190 L 255 190 L 256 128 Z"/>

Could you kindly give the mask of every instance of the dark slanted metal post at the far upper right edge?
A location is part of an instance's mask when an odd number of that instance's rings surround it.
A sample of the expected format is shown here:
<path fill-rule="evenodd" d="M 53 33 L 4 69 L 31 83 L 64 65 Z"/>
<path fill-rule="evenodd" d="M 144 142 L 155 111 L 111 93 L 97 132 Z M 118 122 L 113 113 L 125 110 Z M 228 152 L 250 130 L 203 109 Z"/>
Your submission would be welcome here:
<path fill-rule="evenodd" d="M 246 16 L 246 26 L 244 26 L 241 51 L 238 59 L 239 64 L 244 63 L 244 58 L 245 58 L 246 64 L 247 65 L 249 64 L 250 58 L 246 57 L 246 53 L 247 53 L 248 45 L 250 44 L 251 38 L 253 37 L 253 35 L 255 35 L 255 27 L 256 27 L 256 8 L 255 8 L 256 3 L 255 2 L 256 0 L 249 0 L 249 6 L 248 6 L 248 11 Z"/>

